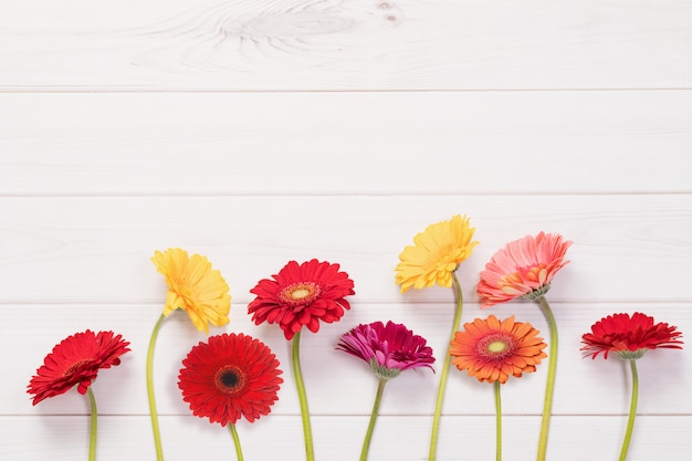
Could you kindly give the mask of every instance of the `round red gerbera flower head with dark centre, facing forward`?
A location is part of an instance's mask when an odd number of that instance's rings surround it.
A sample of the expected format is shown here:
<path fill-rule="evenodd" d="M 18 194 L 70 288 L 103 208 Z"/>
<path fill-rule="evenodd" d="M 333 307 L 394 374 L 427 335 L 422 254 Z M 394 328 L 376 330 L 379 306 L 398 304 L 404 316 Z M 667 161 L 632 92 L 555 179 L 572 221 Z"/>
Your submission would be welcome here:
<path fill-rule="evenodd" d="M 240 334 L 210 336 L 182 360 L 178 387 L 192 413 L 209 422 L 253 422 L 271 411 L 283 379 L 279 360 L 261 340 Z"/>

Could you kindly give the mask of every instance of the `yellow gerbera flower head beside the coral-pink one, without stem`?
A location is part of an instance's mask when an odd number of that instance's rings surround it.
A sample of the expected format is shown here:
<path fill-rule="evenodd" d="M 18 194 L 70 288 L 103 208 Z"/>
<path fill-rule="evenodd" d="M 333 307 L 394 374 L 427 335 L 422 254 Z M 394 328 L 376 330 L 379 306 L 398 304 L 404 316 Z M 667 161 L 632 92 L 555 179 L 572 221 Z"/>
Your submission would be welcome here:
<path fill-rule="evenodd" d="M 401 293 L 411 286 L 420 290 L 436 283 L 452 286 L 452 272 L 479 244 L 471 241 L 474 232 L 469 218 L 454 214 L 449 221 L 430 224 L 413 237 L 413 245 L 403 249 L 395 269 Z"/>

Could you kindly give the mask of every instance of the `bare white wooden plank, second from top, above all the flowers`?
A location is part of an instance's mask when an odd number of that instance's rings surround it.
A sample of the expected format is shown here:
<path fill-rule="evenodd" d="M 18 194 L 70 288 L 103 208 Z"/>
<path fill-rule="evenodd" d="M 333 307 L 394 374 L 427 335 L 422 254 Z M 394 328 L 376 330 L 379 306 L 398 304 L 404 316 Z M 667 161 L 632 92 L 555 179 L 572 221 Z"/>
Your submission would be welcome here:
<path fill-rule="evenodd" d="M 692 92 L 6 94 L 0 195 L 692 192 Z"/>

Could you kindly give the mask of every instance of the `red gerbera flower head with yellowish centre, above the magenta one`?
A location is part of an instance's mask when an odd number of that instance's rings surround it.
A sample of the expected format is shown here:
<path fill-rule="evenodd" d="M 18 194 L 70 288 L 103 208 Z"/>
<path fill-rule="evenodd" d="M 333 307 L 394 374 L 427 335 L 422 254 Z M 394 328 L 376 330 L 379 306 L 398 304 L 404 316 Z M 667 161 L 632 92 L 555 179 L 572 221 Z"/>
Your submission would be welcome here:
<path fill-rule="evenodd" d="M 256 298 L 248 305 L 248 313 L 256 325 L 277 323 L 286 339 L 303 326 L 315 333 L 319 321 L 332 323 L 350 308 L 344 298 L 355 294 L 354 282 L 338 264 L 312 260 L 298 265 L 290 261 L 274 280 L 263 279 L 250 290 Z"/>

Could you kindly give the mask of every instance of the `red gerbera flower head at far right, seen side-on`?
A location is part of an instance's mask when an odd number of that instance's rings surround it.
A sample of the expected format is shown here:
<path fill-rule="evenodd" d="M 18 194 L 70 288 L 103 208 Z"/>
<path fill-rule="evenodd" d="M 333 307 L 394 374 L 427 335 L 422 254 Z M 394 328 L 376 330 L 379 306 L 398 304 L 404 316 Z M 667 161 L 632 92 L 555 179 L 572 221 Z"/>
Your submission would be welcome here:
<path fill-rule="evenodd" d="M 629 314 L 612 314 L 601 318 L 591 326 L 591 333 L 581 336 L 585 346 L 581 350 L 586 356 L 596 358 L 604 353 L 617 353 L 625 359 L 640 358 L 649 349 L 668 348 L 682 349 L 681 332 L 667 323 L 653 323 L 653 317 L 636 312 Z"/>

